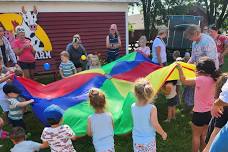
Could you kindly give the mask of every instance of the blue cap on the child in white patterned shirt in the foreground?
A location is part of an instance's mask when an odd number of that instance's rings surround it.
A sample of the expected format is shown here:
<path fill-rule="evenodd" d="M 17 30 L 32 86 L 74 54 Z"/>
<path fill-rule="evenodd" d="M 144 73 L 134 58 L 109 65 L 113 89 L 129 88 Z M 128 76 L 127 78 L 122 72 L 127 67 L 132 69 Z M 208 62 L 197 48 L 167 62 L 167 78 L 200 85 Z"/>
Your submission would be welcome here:
<path fill-rule="evenodd" d="M 59 106 L 52 104 L 44 110 L 44 117 L 46 120 L 52 119 L 55 121 L 60 121 L 63 117 L 64 110 Z"/>

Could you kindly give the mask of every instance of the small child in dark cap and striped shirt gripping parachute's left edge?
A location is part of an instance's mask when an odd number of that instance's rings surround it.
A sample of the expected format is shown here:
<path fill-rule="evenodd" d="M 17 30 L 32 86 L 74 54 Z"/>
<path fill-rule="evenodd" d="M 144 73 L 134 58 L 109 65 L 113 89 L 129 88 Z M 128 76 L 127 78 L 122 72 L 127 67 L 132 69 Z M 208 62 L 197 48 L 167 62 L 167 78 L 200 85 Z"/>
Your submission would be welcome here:
<path fill-rule="evenodd" d="M 9 102 L 9 122 L 13 125 L 13 127 L 22 127 L 25 129 L 26 127 L 23 121 L 23 107 L 33 103 L 34 100 L 31 99 L 20 102 L 20 90 L 12 83 L 5 84 L 3 86 L 3 92 L 7 95 Z"/>

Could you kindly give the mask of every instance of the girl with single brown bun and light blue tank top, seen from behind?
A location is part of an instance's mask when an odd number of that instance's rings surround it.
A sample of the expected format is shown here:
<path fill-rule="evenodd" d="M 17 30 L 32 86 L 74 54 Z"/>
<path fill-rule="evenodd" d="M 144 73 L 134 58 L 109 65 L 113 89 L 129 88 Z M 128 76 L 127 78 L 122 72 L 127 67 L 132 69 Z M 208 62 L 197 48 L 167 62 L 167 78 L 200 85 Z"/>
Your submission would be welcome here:
<path fill-rule="evenodd" d="M 87 134 L 93 137 L 95 151 L 114 152 L 113 120 L 111 114 L 105 112 L 105 95 L 99 89 L 91 89 L 89 101 L 95 114 L 88 118 Z"/>

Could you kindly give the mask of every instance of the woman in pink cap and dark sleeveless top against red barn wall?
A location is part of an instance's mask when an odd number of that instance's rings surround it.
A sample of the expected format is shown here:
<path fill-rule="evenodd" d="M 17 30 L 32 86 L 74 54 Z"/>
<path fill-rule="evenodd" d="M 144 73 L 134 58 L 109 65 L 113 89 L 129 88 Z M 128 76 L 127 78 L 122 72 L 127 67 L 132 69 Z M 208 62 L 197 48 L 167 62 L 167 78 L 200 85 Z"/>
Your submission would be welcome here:
<path fill-rule="evenodd" d="M 117 25 L 112 24 L 109 29 L 109 35 L 106 37 L 107 62 L 115 61 L 119 58 L 119 50 L 121 47 L 120 35 Z"/>

